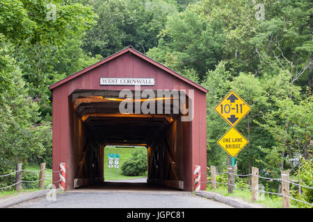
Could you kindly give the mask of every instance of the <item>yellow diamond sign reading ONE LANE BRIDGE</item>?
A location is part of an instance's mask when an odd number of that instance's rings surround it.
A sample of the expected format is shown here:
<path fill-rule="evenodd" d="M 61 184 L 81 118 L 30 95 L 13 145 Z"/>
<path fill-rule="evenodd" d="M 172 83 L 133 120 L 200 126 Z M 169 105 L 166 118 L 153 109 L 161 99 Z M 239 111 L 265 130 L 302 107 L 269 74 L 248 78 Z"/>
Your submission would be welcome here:
<path fill-rule="evenodd" d="M 238 155 L 248 143 L 248 140 L 233 127 L 218 140 L 218 145 L 232 157 Z"/>

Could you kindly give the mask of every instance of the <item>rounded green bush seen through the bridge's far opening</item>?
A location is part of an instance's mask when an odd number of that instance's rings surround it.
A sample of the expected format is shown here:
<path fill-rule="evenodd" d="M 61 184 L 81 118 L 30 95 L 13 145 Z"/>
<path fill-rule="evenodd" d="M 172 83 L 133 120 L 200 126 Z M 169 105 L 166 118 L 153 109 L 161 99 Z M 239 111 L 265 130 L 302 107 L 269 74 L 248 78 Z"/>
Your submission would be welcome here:
<path fill-rule="evenodd" d="M 147 152 L 135 151 L 131 158 L 122 164 L 122 174 L 139 176 L 147 171 Z"/>

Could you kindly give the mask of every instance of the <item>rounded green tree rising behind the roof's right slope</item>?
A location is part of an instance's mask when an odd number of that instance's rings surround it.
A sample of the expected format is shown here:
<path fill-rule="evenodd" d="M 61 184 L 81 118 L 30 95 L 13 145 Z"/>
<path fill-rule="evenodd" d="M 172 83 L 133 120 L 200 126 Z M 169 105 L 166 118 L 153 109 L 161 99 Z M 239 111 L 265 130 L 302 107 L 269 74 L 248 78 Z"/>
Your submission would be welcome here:
<path fill-rule="evenodd" d="M 170 15 L 159 45 L 147 56 L 182 73 L 193 69 L 202 81 L 221 60 L 225 35 L 220 22 L 208 23 L 198 10 L 198 5 L 189 5 L 184 12 Z"/>

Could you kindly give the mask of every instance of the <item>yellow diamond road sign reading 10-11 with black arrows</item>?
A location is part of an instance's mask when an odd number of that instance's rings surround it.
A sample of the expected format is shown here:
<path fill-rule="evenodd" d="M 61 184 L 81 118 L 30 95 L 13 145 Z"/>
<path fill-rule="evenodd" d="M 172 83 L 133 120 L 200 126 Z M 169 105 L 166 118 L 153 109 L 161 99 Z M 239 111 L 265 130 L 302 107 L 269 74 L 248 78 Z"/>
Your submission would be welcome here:
<path fill-rule="evenodd" d="M 250 112 L 251 108 L 236 92 L 232 91 L 216 105 L 214 110 L 234 127 Z"/>

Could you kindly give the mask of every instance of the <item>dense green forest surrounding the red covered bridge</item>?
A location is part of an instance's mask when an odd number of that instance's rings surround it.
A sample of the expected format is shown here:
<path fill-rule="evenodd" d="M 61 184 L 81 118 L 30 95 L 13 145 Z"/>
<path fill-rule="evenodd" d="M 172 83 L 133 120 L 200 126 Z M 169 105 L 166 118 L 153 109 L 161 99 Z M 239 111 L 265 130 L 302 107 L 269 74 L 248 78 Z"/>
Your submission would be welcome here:
<path fill-rule="evenodd" d="M 208 166 L 227 165 L 216 142 L 229 126 L 214 107 L 234 89 L 252 107 L 236 127 L 250 141 L 238 171 L 303 177 L 307 166 L 312 187 L 312 4 L 0 0 L 0 174 L 17 162 L 51 166 L 48 86 L 132 45 L 209 89 Z"/>

